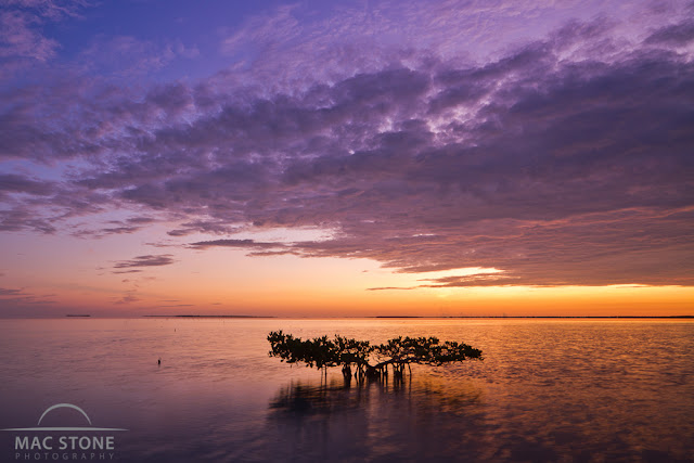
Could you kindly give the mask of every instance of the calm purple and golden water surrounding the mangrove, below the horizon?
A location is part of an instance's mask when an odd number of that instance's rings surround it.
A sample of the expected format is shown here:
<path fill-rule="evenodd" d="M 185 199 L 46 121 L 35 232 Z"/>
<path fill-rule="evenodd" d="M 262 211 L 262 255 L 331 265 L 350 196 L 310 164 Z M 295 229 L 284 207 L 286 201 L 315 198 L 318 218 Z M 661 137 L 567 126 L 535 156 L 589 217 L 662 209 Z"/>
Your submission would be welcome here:
<path fill-rule="evenodd" d="M 325 383 L 268 358 L 278 329 L 435 335 L 485 361 L 346 387 L 339 369 Z M 693 352 L 691 321 L 3 320 L 0 428 L 72 403 L 93 426 L 128 429 L 112 433 L 127 462 L 694 461 Z M 63 408 L 41 425 L 85 423 Z M 0 461 L 73 459 L 17 460 L 18 434 L 0 432 Z"/>

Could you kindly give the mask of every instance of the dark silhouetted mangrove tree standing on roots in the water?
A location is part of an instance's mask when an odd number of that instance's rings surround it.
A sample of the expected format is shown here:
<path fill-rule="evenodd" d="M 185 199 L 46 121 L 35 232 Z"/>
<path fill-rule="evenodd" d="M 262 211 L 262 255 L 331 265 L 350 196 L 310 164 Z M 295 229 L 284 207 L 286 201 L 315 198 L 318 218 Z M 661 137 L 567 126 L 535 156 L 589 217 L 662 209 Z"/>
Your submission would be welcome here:
<path fill-rule="evenodd" d="M 282 331 L 268 335 L 270 357 L 279 357 L 287 363 L 306 363 L 306 366 L 323 370 L 326 374 L 331 366 L 343 366 L 345 380 L 355 377 L 382 378 L 388 376 L 388 368 L 394 377 L 401 378 L 406 366 L 411 363 L 441 365 L 464 360 L 483 360 L 481 350 L 464 343 L 447 340 L 439 343 L 437 337 L 396 337 L 385 344 L 372 346 L 368 340 L 357 340 L 335 335 L 301 340 Z M 372 364 L 370 361 L 375 360 Z"/>

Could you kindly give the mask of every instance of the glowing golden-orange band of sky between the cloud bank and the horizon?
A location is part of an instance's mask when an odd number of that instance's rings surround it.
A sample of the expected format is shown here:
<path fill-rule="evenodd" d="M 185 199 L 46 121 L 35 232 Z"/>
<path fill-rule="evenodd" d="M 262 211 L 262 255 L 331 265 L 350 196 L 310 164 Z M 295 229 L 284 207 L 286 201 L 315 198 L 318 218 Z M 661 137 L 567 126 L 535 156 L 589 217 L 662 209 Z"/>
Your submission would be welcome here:
<path fill-rule="evenodd" d="M 147 237 L 142 235 L 139 242 Z M 26 291 L 44 296 L 47 301 L 42 304 L 46 310 L 39 313 L 52 313 L 48 309 L 60 299 L 65 307 L 62 310 L 75 307 L 111 316 L 670 316 L 691 314 L 694 300 L 694 290 L 685 286 L 432 287 L 430 283 L 440 279 L 503 272 L 462 268 L 404 273 L 367 258 L 249 257 L 246 250 L 232 248 L 176 250 L 176 263 L 133 273 L 128 269 L 118 273 L 112 267 L 95 271 L 104 260 L 115 262 L 120 256 L 116 246 L 107 245 L 110 239 L 104 240 L 104 246 L 88 254 L 91 259 L 82 256 L 70 261 L 66 257 L 73 252 L 70 246 L 50 242 L 16 256 L 17 268 L 27 266 L 23 276 L 30 285 Z M 78 239 L 72 242 L 75 246 L 82 243 Z M 28 265 L 34 259 L 50 265 L 37 272 Z"/>

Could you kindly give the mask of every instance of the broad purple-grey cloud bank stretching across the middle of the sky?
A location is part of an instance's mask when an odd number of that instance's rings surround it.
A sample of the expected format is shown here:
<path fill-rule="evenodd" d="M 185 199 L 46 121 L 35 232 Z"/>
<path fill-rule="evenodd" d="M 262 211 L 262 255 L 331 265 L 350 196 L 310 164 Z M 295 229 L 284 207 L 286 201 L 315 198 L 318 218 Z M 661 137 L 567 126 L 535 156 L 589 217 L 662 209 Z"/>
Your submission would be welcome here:
<path fill-rule="evenodd" d="M 291 41 L 292 10 L 283 14 L 279 34 Z M 694 65 L 668 49 L 689 40 L 686 24 L 625 44 L 613 37 L 618 22 L 569 21 L 479 62 L 448 59 L 441 43 L 400 49 L 294 91 L 215 76 L 139 94 L 56 86 L 46 104 L 27 89 L 3 113 L 11 134 L 0 133 L 0 156 L 78 167 L 44 193 L 8 177 L 5 195 L 35 197 L 12 200 L 0 229 L 60 227 L 31 214 L 47 204 L 66 217 L 131 205 L 176 220 L 170 236 L 226 235 L 189 248 L 363 257 L 401 272 L 503 270 L 430 287 L 691 285 Z M 230 37 L 227 51 L 243 40 Z M 305 227 L 336 232 L 287 243 L 233 236 Z M 114 268 L 172 262 L 139 256 Z"/>

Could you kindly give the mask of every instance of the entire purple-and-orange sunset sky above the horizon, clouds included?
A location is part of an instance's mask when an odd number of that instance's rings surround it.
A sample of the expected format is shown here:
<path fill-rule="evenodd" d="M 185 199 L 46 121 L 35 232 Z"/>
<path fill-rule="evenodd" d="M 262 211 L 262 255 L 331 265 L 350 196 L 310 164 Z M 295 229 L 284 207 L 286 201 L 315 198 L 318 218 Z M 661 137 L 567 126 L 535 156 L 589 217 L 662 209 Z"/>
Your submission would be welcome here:
<path fill-rule="evenodd" d="M 0 317 L 693 316 L 692 17 L 0 0 Z"/>

